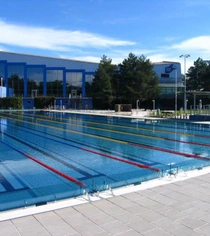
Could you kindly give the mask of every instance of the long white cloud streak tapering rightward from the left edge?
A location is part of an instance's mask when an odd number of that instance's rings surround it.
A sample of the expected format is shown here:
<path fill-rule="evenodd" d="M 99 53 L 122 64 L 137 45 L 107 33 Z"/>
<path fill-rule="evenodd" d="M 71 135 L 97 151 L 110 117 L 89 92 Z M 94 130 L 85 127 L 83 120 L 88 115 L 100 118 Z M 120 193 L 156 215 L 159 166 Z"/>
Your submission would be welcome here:
<path fill-rule="evenodd" d="M 71 47 L 109 48 L 134 45 L 124 41 L 82 31 L 56 30 L 8 24 L 0 20 L 0 43 L 20 47 L 66 51 Z"/>

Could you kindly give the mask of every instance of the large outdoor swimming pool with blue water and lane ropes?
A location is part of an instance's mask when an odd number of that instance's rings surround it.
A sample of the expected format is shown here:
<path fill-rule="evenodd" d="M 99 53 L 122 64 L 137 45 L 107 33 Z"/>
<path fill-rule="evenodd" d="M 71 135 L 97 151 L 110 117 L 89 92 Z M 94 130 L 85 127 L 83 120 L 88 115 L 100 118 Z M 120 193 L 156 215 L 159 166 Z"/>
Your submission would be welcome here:
<path fill-rule="evenodd" d="M 0 211 L 209 165 L 209 126 L 62 112 L 0 113 Z"/>

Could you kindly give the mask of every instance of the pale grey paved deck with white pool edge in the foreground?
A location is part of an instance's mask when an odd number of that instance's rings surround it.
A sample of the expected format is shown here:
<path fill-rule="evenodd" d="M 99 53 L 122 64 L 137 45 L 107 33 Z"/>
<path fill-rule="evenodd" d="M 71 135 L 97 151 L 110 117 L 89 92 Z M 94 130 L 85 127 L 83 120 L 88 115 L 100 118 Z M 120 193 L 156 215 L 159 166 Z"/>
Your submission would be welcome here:
<path fill-rule="evenodd" d="M 210 235 L 210 167 L 0 213 L 2 236 Z"/>

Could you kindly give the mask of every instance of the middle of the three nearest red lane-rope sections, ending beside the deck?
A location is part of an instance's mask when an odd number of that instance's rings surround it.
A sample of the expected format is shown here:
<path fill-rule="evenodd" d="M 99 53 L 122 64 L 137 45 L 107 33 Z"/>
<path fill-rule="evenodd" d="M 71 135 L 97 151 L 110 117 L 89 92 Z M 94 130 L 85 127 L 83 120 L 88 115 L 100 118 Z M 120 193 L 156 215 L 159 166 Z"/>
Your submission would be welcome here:
<path fill-rule="evenodd" d="M 108 154 L 105 154 L 105 153 L 101 153 L 101 152 L 96 152 L 96 151 L 89 150 L 89 149 L 86 149 L 86 148 L 82 148 L 82 150 L 87 151 L 87 152 L 91 152 L 91 153 L 94 153 L 94 154 L 97 154 L 97 155 L 100 155 L 100 156 L 104 156 L 104 157 L 107 157 L 107 158 L 110 158 L 110 159 L 113 159 L 113 160 L 116 160 L 116 161 L 125 162 L 127 164 L 130 164 L 130 165 L 133 165 L 133 166 L 137 166 L 137 167 L 140 167 L 140 168 L 144 168 L 144 169 L 149 169 L 149 170 L 153 170 L 153 171 L 156 171 L 156 172 L 160 172 L 160 169 L 154 168 L 154 167 L 151 167 L 151 166 L 147 166 L 147 165 L 144 165 L 144 164 L 140 164 L 140 163 L 136 163 L 136 162 L 133 162 L 133 161 L 124 160 L 124 159 L 121 159 L 121 158 L 118 158 L 118 157 L 114 157 L 114 156 L 111 156 L 111 155 L 108 155 Z"/>

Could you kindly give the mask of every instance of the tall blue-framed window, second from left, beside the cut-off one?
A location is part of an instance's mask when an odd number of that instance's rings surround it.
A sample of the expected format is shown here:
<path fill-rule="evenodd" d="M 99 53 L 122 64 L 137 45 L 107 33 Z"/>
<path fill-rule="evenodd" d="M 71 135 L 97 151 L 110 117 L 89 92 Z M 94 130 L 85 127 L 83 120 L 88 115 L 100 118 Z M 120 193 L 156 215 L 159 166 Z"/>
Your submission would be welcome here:
<path fill-rule="evenodd" d="M 22 97 L 24 94 L 24 67 L 25 65 L 9 65 L 8 87 L 13 89 L 13 96 Z"/>

